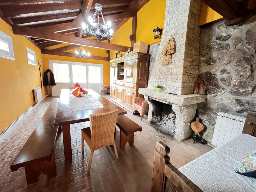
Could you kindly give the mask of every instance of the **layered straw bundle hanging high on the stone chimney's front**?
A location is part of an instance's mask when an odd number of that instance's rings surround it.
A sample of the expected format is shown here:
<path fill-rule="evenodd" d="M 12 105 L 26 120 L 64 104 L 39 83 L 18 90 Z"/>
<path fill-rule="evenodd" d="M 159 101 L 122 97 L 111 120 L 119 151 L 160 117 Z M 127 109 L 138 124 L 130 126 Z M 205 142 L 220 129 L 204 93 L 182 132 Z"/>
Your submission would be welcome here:
<path fill-rule="evenodd" d="M 162 65 L 169 65 L 171 63 L 172 54 L 175 53 L 175 51 L 176 51 L 175 49 L 176 49 L 176 42 L 175 42 L 175 39 L 172 36 L 172 38 L 170 38 L 166 42 L 166 44 L 165 44 L 165 46 L 164 46 L 164 48 L 161 52 L 161 55 L 164 56 Z"/>

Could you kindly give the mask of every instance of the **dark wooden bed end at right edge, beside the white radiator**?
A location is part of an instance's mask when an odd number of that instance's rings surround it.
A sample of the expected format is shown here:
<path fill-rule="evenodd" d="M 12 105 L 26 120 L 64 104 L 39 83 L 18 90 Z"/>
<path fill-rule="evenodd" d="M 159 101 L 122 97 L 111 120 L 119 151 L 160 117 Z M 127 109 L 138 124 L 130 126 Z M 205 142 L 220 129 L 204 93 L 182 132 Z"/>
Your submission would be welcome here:
<path fill-rule="evenodd" d="M 248 111 L 242 133 L 246 133 L 248 135 L 252 135 L 256 137 L 256 112 L 255 111 Z"/>

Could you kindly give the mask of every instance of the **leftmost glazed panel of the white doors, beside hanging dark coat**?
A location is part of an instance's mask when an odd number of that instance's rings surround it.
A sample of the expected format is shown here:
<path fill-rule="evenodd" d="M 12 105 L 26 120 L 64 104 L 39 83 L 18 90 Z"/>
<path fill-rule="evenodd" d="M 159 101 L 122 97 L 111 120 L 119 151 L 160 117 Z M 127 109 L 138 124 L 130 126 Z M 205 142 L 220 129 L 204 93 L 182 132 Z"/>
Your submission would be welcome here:
<path fill-rule="evenodd" d="M 52 95 L 60 95 L 61 89 L 69 89 L 70 86 L 69 64 L 54 62 L 52 63 L 52 72 L 56 82 L 56 86 L 52 88 Z"/>

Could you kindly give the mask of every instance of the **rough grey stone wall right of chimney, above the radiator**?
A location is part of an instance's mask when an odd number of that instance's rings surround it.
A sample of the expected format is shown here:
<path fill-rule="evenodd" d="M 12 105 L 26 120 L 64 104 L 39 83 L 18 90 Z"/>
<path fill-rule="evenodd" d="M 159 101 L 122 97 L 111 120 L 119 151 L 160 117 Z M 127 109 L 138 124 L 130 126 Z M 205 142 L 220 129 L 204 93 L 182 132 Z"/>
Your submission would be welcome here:
<path fill-rule="evenodd" d="M 198 105 L 211 142 L 216 113 L 244 117 L 256 111 L 256 22 L 227 27 L 224 22 L 201 28 L 199 77 L 207 87 L 207 101 Z"/>

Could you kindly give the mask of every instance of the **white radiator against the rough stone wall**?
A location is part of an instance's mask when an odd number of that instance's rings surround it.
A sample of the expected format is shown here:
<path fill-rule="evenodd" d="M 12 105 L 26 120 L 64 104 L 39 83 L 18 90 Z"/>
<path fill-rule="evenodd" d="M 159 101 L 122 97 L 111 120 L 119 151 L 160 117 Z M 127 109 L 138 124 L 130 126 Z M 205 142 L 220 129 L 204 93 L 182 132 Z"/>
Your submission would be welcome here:
<path fill-rule="evenodd" d="M 212 137 L 212 144 L 219 146 L 239 135 L 243 131 L 245 118 L 228 113 L 217 113 L 217 121 Z"/>

